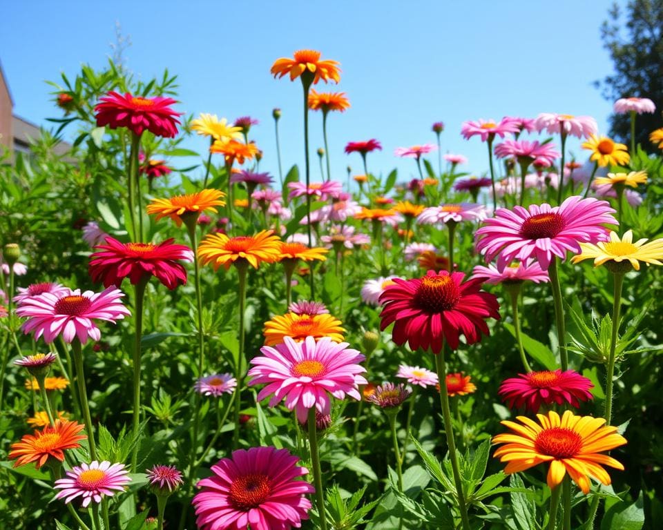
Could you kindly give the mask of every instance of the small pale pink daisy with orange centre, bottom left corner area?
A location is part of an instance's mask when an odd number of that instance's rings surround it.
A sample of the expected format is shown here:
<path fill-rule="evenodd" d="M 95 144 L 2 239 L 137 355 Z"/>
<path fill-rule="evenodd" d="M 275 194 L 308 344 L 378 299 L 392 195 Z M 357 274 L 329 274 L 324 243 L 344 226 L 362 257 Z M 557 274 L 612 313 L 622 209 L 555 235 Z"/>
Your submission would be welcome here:
<path fill-rule="evenodd" d="M 124 464 L 111 464 L 107 460 L 90 464 L 81 464 L 67 471 L 66 478 L 55 481 L 53 486 L 59 489 L 56 499 L 64 498 L 68 504 L 77 497 L 82 497 L 82 507 L 86 508 L 90 502 L 102 502 L 104 495 L 112 497 L 116 491 L 124 491 L 126 484 L 131 482 Z"/>

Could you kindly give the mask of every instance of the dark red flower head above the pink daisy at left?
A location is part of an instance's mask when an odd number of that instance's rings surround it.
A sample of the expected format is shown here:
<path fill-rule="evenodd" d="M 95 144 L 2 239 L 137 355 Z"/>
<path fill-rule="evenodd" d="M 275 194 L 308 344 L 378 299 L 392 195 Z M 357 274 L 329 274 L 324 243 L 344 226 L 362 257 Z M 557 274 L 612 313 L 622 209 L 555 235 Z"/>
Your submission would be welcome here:
<path fill-rule="evenodd" d="M 193 261 L 193 252 L 188 246 L 175 245 L 173 239 L 162 244 L 121 243 L 113 237 L 106 237 L 105 245 L 97 245 L 99 252 L 90 257 L 89 271 L 93 282 L 103 282 L 108 287 L 122 284 L 129 278 L 132 284 L 141 279 L 156 276 L 169 289 L 178 284 L 186 284 L 186 271 L 176 259 Z"/>

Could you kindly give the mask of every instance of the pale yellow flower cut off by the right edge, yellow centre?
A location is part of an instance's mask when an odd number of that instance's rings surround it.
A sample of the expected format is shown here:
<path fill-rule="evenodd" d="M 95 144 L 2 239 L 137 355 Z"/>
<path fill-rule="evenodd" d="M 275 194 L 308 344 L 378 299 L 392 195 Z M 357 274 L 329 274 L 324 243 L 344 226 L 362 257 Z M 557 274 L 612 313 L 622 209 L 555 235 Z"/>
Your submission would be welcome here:
<path fill-rule="evenodd" d="M 594 266 L 606 262 L 624 262 L 628 260 L 636 271 L 640 271 L 640 262 L 654 265 L 663 265 L 663 239 L 654 239 L 647 243 L 647 239 L 638 239 L 633 243 L 633 231 L 628 230 L 622 239 L 615 232 L 610 233 L 610 241 L 601 241 L 597 244 L 581 243 L 581 253 L 573 256 L 573 263 L 582 262 L 583 259 L 594 259 Z"/>

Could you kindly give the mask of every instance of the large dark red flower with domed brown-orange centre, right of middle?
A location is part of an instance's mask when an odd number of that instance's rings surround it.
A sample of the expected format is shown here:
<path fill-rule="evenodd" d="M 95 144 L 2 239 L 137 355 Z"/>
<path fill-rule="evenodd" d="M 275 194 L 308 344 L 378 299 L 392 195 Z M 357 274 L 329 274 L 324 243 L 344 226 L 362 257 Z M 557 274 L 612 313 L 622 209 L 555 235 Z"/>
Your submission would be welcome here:
<path fill-rule="evenodd" d="M 422 278 L 394 278 L 379 299 L 384 305 L 381 330 L 395 322 L 394 342 L 408 342 L 413 351 L 440 353 L 443 341 L 457 349 L 461 333 L 468 344 L 479 342 L 481 333 L 489 333 L 484 319 L 499 319 L 499 304 L 497 297 L 481 291 L 481 279 L 461 283 L 464 277 L 428 271 Z"/>

